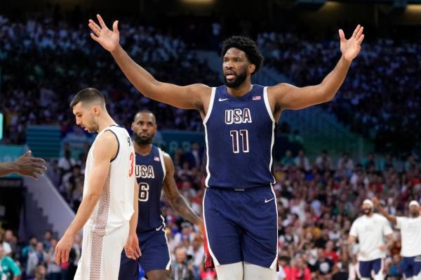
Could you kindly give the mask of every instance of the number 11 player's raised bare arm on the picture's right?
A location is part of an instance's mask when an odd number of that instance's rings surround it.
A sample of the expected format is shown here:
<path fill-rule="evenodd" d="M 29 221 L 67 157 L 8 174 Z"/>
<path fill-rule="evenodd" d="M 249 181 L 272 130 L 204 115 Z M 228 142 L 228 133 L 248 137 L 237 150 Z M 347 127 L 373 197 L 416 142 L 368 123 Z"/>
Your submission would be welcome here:
<path fill-rule="evenodd" d="M 278 84 L 268 88 L 269 100 L 281 109 L 302 109 L 312 105 L 328 102 L 333 99 L 342 83 L 352 60 L 356 58 L 364 39 L 363 27 L 358 25 L 350 39 L 345 39 L 342 29 L 339 30 L 340 51 L 342 56 L 335 68 L 316 86 L 298 88 L 290 84 Z"/>

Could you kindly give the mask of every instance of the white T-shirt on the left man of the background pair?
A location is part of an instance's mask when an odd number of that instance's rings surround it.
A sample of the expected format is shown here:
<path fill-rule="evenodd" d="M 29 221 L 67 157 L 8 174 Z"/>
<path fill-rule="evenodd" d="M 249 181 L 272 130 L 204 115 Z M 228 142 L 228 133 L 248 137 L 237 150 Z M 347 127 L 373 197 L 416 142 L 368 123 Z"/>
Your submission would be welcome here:
<path fill-rule="evenodd" d="M 379 247 L 385 245 L 384 236 L 389 234 L 392 234 L 392 228 L 382 215 L 362 215 L 354 220 L 349 235 L 359 239 L 358 260 L 385 258 L 386 252 L 381 251 Z"/>

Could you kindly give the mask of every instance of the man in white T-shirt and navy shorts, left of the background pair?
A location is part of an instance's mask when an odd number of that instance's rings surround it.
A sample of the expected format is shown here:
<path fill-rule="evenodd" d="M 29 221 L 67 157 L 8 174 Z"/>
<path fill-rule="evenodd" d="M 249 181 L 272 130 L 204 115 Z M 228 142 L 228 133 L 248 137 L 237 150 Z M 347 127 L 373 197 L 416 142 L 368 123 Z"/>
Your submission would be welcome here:
<path fill-rule="evenodd" d="M 354 220 L 349 230 L 348 245 L 351 247 L 358 238 L 359 278 L 369 280 L 373 277 L 374 280 L 383 280 L 383 262 L 387 249 L 393 243 L 392 229 L 385 217 L 373 212 L 373 202 L 370 199 L 363 201 L 362 210 L 363 215 Z"/>

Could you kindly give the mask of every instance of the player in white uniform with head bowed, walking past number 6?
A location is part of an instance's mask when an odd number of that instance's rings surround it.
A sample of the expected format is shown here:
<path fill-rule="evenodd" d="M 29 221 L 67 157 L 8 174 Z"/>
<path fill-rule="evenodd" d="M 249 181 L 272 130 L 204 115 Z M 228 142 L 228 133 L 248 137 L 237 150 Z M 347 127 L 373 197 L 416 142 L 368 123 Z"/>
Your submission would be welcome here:
<path fill-rule="evenodd" d="M 109 116 L 104 95 L 97 89 L 79 91 L 70 107 L 76 124 L 98 135 L 86 159 L 81 205 L 55 248 L 55 262 L 69 260 L 74 236 L 83 227 L 82 254 L 74 279 L 116 280 L 126 242 L 130 258 L 140 253 L 132 247 L 137 241 L 135 232 L 129 236 L 129 221 L 137 215 L 134 200 L 138 196 L 133 142 L 126 128 Z"/>

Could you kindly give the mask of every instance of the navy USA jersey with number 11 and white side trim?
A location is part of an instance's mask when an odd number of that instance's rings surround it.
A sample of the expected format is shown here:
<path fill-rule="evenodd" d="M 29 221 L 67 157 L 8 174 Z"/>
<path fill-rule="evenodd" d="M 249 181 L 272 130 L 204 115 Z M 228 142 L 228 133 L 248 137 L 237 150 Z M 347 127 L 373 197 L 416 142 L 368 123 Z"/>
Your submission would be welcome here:
<path fill-rule="evenodd" d="M 275 121 L 267 90 L 253 85 L 240 98 L 226 86 L 212 89 L 203 120 L 206 133 L 206 187 L 268 186 L 272 175 Z"/>

